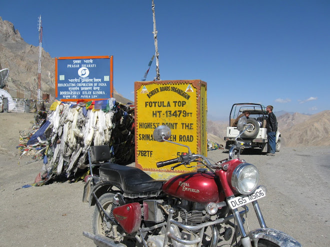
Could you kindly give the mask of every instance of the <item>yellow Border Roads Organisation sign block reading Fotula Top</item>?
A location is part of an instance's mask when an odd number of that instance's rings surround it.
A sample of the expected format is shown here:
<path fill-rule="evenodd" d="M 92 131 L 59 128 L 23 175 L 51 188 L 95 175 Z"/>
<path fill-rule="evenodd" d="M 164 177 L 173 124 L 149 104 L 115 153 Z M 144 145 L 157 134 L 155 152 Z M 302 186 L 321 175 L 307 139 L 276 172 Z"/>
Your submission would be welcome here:
<path fill-rule="evenodd" d="M 170 141 L 189 146 L 192 153 L 206 155 L 205 82 L 137 81 L 134 86 L 136 167 L 145 171 L 171 171 L 170 166 L 157 168 L 156 163 L 188 151 L 179 145 L 154 141 L 153 130 L 159 125 L 171 129 Z M 174 170 L 186 171 L 184 166 Z"/>

